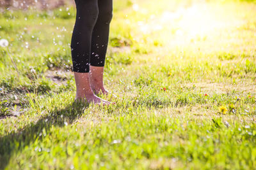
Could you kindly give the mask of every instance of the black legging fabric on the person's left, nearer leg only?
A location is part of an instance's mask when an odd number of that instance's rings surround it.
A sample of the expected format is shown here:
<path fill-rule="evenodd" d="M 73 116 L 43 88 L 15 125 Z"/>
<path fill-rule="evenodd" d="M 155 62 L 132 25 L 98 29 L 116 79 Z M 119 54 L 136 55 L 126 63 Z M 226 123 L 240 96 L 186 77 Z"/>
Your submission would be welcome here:
<path fill-rule="evenodd" d="M 92 31 L 99 15 L 97 0 L 76 1 L 76 24 L 71 39 L 73 71 L 89 73 Z"/>

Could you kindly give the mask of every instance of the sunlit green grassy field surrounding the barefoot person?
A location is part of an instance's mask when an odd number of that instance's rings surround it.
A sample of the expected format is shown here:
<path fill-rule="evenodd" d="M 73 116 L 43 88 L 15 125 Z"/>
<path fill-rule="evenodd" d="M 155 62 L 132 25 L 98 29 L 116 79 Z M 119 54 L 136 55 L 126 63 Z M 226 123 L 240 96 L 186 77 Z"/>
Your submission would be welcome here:
<path fill-rule="evenodd" d="M 113 106 L 74 103 L 75 15 L 0 13 L 0 169 L 256 167 L 256 3 L 115 0 Z"/>

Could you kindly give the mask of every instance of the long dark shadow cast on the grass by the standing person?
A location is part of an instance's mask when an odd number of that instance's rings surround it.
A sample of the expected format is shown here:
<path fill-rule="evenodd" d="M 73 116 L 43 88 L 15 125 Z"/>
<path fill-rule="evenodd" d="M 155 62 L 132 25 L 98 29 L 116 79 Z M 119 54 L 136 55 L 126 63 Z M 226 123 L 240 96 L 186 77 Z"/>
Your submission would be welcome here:
<path fill-rule="evenodd" d="M 65 122 L 72 124 L 77 118 L 81 117 L 88 104 L 74 102 L 61 110 L 54 110 L 45 117 L 40 118 L 35 124 L 31 123 L 19 129 L 18 132 L 0 138 L 0 169 L 8 166 L 13 154 L 22 151 L 23 148 L 35 142 L 36 139 L 42 140 L 42 131 L 48 133 L 53 126 L 63 127 Z"/>

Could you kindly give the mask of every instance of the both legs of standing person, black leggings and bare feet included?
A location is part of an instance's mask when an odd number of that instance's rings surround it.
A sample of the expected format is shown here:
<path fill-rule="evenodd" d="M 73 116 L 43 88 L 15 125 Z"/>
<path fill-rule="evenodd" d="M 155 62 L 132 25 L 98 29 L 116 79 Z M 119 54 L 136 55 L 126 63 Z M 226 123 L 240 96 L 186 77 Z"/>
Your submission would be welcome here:
<path fill-rule="evenodd" d="M 103 85 L 103 71 L 108 48 L 112 0 L 75 0 L 76 24 L 71 40 L 76 99 L 109 104 L 95 94 L 108 94 Z"/>

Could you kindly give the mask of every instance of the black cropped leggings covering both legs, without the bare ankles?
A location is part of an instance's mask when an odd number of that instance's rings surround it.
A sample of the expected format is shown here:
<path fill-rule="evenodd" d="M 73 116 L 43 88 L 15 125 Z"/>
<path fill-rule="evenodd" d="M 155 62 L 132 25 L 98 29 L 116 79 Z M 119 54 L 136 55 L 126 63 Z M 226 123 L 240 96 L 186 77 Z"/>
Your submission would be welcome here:
<path fill-rule="evenodd" d="M 76 24 L 71 40 L 73 71 L 88 73 L 104 66 L 108 48 L 112 0 L 75 0 Z"/>

